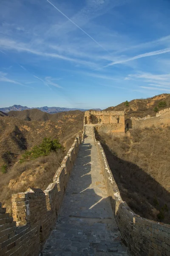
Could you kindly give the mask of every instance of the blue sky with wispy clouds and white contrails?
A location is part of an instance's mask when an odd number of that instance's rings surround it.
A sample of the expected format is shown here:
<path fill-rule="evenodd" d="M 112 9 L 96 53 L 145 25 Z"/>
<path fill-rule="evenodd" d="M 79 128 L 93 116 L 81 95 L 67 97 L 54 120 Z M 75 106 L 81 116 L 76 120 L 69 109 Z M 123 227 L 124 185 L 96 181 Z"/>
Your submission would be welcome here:
<path fill-rule="evenodd" d="M 170 93 L 169 0 L 1 0 L 0 107 Z"/>

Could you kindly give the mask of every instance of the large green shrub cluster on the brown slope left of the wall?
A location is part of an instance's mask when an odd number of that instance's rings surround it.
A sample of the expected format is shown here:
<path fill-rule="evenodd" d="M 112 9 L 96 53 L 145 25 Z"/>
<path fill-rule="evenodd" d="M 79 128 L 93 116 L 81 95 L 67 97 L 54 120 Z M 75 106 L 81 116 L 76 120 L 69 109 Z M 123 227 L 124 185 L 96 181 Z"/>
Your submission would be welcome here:
<path fill-rule="evenodd" d="M 48 156 L 51 151 L 57 152 L 58 149 L 64 149 L 58 140 L 51 140 L 51 137 L 44 138 L 39 146 L 34 146 L 31 150 L 26 150 L 20 159 L 20 163 L 26 160 L 33 160 L 37 157 Z"/>

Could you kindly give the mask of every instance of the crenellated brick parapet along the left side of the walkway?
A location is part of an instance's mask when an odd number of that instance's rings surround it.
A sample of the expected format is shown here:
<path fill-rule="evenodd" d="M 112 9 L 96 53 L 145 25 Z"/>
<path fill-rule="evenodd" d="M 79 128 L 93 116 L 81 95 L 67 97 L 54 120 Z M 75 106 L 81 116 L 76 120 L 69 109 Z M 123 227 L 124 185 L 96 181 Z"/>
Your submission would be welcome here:
<path fill-rule="evenodd" d="M 45 191 L 29 188 L 12 195 L 13 218 L 0 203 L 0 256 L 38 256 L 62 204 L 82 138 L 76 137 Z"/>

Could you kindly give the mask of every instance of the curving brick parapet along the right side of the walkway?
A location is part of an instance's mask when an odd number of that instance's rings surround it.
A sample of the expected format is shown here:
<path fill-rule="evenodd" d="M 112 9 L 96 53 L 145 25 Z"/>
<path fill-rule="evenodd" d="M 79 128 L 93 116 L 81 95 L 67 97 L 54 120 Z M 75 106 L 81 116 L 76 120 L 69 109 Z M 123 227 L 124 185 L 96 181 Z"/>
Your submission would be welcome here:
<path fill-rule="evenodd" d="M 96 142 L 96 146 L 113 213 L 131 254 L 133 256 L 169 256 L 170 225 L 142 218 L 135 214 L 126 202 L 122 201 L 99 141 Z"/>

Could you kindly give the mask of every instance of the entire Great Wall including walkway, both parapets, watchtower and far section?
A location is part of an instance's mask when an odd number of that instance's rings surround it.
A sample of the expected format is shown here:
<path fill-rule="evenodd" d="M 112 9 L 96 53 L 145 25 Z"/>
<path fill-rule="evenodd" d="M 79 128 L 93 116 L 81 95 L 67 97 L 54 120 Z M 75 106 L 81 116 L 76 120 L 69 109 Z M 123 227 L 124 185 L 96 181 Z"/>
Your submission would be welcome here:
<path fill-rule="evenodd" d="M 91 113 L 92 119 L 85 113 L 82 138 L 76 137 L 45 191 L 29 188 L 12 195 L 12 217 L 0 205 L 0 256 L 170 256 L 170 225 L 142 218 L 122 201 L 95 138 L 96 117 L 105 131 L 106 123 L 113 132 L 119 127 L 125 132 L 123 111 L 97 112 Z M 147 119 L 170 123 L 169 110 L 160 112 L 134 119 L 134 124 Z"/>

